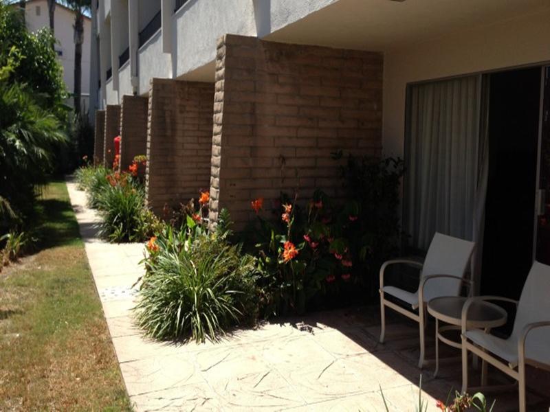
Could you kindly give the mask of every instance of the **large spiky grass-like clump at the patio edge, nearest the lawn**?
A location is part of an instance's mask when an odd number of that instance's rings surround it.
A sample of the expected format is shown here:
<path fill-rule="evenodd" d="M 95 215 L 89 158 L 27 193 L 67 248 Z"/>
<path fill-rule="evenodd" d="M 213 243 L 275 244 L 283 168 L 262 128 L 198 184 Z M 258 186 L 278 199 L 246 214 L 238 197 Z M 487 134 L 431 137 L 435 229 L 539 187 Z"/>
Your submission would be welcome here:
<path fill-rule="evenodd" d="M 135 310 L 155 339 L 217 341 L 231 326 L 256 319 L 254 258 L 220 236 L 197 233 L 199 226 L 168 226 L 148 245 Z"/>

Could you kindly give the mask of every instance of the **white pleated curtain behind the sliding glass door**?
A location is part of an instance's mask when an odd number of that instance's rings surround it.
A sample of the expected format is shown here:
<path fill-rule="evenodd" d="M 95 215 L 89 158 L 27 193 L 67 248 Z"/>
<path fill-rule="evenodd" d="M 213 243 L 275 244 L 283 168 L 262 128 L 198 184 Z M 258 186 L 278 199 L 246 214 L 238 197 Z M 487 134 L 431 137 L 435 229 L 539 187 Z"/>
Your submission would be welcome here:
<path fill-rule="evenodd" d="M 428 249 L 436 231 L 466 240 L 480 235 L 474 227 L 483 219 L 478 189 L 487 152 L 480 101 L 481 76 L 409 89 L 404 225 L 412 247 Z"/>

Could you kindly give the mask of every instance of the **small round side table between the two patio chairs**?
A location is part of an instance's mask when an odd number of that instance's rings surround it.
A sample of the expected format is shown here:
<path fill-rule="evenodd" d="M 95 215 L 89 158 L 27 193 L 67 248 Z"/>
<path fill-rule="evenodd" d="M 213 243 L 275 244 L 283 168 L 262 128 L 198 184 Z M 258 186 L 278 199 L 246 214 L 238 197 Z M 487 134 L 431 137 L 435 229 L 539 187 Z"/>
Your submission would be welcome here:
<path fill-rule="evenodd" d="M 467 297 L 444 296 L 436 297 L 428 302 L 428 313 L 435 318 L 435 372 L 437 376 L 439 371 L 439 341 L 449 346 L 461 349 L 461 341 L 456 342 L 443 336 L 443 332 L 449 330 L 461 330 L 462 308 Z M 469 329 L 483 329 L 489 332 L 492 328 L 497 328 L 506 323 L 507 312 L 487 301 L 476 302 L 468 310 L 467 327 Z M 439 327 L 439 321 L 448 323 Z"/>

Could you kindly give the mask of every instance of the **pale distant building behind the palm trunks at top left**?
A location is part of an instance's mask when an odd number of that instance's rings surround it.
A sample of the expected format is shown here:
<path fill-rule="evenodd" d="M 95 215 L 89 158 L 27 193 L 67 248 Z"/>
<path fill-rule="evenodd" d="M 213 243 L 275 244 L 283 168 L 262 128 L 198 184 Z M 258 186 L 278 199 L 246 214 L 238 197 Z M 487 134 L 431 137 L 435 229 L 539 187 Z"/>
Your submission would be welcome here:
<path fill-rule="evenodd" d="M 50 27 L 46 0 L 30 0 L 25 5 L 25 21 L 29 30 L 36 32 L 43 27 Z M 63 80 L 69 93 L 74 91 L 74 12 L 65 5 L 57 4 L 55 9 L 54 34 L 58 41 L 56 52 L 63 65 Z M 84 43 L 82 45 L 82 81 L 80 84 L 81 101 L 85 108 L 89 108 L 90 91 L 90 39 L 91 19 L 84 16 Z M 97 87 L 97 85 L 96 85 Z M 67 104 L 73 104 L 69 98 Z"/>

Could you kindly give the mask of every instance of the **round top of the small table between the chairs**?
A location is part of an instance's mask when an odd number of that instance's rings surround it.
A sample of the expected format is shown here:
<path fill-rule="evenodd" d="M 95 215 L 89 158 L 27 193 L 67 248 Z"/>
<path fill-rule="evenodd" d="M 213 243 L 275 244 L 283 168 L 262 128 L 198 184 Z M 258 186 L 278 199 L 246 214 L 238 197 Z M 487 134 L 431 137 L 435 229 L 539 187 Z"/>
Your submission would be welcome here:
<path fill-rule="evenodd" d="M 467 297 L 436 297 L 428 302 L 428 313 L 440 321 L 451 325 L 461 325 L 462 308 Z M 468 309 L 468 328 L 496 328 L 506 323 L 508 314 L 500 306 L 487 301 L 476 301 Z"/>

